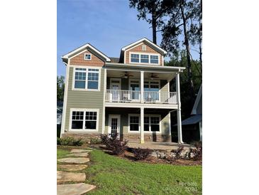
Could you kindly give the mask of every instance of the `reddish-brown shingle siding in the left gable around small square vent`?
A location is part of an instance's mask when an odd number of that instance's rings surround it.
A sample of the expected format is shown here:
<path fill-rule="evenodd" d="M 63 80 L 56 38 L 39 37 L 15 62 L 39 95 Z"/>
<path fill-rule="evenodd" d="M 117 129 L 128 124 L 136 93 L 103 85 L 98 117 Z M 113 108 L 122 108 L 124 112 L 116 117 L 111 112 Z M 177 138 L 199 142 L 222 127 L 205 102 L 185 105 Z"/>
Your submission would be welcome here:
<path fill-rule="evenodd" d="M 84 60 L 84 54 L 92 54 L 91 60 Z M 95 56 L 90 51 L 84 51 L 77 56 L 70 59 L 70 65 L 89 65 L 89 66 L 103 66 L 104 61 Z"/>

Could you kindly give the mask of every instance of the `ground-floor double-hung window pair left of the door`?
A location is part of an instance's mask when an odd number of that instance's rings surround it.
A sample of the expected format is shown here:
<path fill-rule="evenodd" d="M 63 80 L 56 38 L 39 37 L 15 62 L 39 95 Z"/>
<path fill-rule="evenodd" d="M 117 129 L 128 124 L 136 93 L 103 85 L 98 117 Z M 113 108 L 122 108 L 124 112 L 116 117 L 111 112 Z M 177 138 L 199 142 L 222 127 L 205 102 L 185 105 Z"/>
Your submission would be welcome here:
<path fill-rule="evenodd" d="M 97 130 L 98 112 L 97 110 L 73 109 L 71 112 L 71 130 Z"/>

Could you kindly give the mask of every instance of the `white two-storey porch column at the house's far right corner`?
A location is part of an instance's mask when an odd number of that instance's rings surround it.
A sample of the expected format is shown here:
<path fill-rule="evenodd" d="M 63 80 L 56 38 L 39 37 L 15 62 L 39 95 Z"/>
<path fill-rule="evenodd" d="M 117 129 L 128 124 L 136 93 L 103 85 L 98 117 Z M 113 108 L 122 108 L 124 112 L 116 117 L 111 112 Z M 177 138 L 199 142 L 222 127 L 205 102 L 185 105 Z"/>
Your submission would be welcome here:
<path fill-rule="evenodd" d="M 178 143 L 182 144 L 182 117 L 181 117 L 181 98 L 180 98 L 180 73 L 176 73 L 176 92 L 177 92 L 177 134 Z"/>

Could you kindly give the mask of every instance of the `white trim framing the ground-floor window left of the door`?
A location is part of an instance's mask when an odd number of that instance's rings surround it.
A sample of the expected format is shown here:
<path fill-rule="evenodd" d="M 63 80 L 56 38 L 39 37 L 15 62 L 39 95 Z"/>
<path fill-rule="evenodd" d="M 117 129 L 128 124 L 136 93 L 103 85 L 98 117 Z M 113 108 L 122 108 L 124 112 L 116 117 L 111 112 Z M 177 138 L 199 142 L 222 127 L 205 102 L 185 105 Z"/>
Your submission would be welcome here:
<path fill-rule="evenodd" d="M 89 130 L 89 129 L 72 129 L 72 112 L 73 111 L 81 111 L 84 112 L 84 120 L 83 120 L 83 128 L 85 126 L 85 112 L 97 112 L 97 128 L 96 130 Z M 99 131 L 99 109 L 88 109 L 88 108 L 70 108 L 70 132 L 98 132 Z"/>

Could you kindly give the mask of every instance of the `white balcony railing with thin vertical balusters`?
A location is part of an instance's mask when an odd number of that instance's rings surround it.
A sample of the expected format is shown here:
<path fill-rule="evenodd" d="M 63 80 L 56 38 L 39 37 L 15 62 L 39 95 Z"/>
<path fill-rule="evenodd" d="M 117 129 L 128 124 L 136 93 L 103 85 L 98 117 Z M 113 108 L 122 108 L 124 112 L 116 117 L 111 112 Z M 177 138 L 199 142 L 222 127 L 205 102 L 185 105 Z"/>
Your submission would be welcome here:
<path fill-rule="evenodd" d="M 138 90 L 106 90 L 106 102 L 141 102 L 141 94 Z M 145 103 L 177 103 L 176 92 L 144 91 Z"/>

